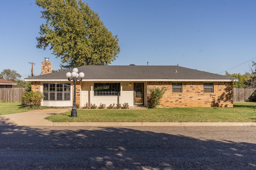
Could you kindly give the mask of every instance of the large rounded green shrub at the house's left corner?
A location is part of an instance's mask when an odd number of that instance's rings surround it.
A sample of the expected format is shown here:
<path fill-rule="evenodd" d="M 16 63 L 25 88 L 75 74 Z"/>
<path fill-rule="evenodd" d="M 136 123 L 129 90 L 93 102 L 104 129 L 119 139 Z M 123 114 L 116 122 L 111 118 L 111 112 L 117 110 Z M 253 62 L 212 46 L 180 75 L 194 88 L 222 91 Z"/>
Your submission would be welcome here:
<path fill-rule="evenodd" d="M 41 92 L 26 91 L 22 96 L 23 106 L 41 106 L 42 98 L 44 95 Z"/>

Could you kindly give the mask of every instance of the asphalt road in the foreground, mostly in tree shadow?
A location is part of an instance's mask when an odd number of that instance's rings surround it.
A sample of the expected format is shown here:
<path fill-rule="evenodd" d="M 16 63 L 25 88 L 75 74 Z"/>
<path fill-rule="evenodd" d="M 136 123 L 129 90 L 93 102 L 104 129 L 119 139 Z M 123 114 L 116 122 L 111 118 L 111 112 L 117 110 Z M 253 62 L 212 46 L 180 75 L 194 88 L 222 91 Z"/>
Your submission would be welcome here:
<path fill-rule="evenodd" d="M 1 170 L 253 170 L 256 127 L 0 126 Z"/>

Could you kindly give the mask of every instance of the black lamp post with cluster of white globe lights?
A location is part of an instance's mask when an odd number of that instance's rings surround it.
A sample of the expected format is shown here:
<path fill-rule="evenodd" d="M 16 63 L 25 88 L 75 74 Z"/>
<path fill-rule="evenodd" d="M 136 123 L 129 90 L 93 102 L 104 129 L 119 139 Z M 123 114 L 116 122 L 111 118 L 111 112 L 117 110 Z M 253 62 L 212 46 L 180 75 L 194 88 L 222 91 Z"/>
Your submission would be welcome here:
<path fill-rule="evenodd" d="M 71 111 L 71 117 L 77 117 L 77 110 L 76 110 L 76 81 L 84 78 L 84 73 L 80 72 L 78 74 L 78 69 L 73 68 L 72 72 L 67 72 L 66 77 L 68 78 L 68 81 L 73 80 L 74 81 L 74 104 Z"/>

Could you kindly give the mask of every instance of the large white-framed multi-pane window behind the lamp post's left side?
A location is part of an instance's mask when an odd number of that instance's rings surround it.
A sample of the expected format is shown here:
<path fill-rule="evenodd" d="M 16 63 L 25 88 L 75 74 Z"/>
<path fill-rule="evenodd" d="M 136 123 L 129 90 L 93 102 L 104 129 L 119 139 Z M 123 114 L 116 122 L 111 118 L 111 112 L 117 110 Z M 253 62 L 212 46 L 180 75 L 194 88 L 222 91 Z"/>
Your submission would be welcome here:
<path fill-rule="evenodd" d="M 70 84 L 44 83 L 43 87 L 45 101 L 70 100 Z"/>

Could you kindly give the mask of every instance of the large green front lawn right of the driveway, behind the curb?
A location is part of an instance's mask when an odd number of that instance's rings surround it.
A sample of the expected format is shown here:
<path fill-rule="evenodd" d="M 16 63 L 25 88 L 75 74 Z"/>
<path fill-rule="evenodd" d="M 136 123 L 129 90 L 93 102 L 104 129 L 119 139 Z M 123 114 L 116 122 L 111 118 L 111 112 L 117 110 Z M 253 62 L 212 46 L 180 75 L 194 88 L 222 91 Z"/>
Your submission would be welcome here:
<path fill-rule="evenodd" d="M 256 102 L 226 107 L 186 107 L 162 109 L 78 109 L 46 117 L 53 122 L 256 122 Z"/>

